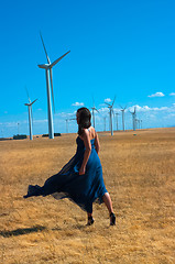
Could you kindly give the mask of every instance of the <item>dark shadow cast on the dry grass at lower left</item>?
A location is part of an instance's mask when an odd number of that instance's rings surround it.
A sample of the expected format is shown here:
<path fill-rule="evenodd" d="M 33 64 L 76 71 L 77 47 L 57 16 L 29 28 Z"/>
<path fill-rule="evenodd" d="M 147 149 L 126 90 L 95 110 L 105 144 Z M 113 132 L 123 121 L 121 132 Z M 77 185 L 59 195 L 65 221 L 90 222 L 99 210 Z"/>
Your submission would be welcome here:
<path fill-rule="evenodd" d="M 40 232 L 45 229 L 46 229 L 45 227 L 36 226 L 33 228 L 15 229 L 12 231 L 0 231 L 0 235 L 2 235 L 3 238 L 18 237 L 18 235 L 28 234 L 28 233 Z"/>

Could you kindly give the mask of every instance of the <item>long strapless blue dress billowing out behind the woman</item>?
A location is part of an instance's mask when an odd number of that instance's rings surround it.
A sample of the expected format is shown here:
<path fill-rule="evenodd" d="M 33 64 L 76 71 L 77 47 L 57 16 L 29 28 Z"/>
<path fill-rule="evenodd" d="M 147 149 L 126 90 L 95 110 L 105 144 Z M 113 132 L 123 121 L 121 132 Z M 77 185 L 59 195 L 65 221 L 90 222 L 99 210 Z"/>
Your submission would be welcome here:
<path fill-rule="evenodd" d="M 76 139 L 76 154 L 62 170 L 50 177 L 43 187 L 30 185 L 24 198 L 47 195 L 52 195 L 55 199 L 68 198 L 87 212 L 92 212 L 94 201 L 102 202 L 102 196 L 107 193 L 107 189 L 102 178 L 101 163 L 95 148 L 95 139 L 90 141 L 91 153 L 85 175 L 79 175 L 79 168 L 84 161 L 85 144 L 79 136 Z"/>

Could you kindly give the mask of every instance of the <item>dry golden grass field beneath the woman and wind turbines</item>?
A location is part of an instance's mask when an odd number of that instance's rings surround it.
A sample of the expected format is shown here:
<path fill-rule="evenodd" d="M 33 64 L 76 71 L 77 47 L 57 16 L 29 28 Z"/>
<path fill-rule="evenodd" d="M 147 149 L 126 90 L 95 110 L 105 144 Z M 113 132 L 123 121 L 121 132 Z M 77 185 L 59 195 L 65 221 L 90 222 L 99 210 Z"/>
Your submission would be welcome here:
<path fill-rule="evenodd" d="M 105 205 L 95 224 L 67 199 L 23 199 L 76 151 L 76 134 L 0 142 L 0 263 L 175 263 L 175 128 L 99 133 L 117 226 Z"/>

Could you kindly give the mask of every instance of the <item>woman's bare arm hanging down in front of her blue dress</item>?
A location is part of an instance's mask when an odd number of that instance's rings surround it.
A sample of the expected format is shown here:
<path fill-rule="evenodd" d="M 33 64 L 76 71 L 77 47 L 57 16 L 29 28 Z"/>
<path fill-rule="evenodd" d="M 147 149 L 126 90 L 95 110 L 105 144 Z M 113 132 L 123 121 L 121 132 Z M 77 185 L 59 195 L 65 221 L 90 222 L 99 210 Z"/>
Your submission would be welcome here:
<path fill-rule="evenodd" d="M 84 131 L 84 135 L 81 136 L 83 141 L 84 141 L 84 144 L 85 144 L 85 154 L 84 154 L 84 161 L 83 161 L 83 164 L 81 164 L 81 167 L 79 169 L 79 175 L 84 175 L 85 174 L 85 170 L 86 170 L 86 164 L 89 160 L 89 156 L 90 156 L 90 152 L 91 152 L 91 144 L 90 144 L 90 139 L 89 139 L 89 132 L 87 129 L 85 129 Z"/>

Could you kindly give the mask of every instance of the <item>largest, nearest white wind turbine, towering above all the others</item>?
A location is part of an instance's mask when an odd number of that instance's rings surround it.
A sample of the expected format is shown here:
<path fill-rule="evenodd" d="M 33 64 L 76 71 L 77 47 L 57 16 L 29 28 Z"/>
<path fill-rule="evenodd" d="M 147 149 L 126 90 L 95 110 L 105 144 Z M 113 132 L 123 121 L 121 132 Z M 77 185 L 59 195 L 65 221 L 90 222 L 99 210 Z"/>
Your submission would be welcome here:
<path fill-rule="evenodd" d="M 51 88 L 52 88 L 52 99 L 53 99 L 53 107 L 55 111 L 55 106 L 54 106 L 54 90 L 53 90 L 53 77 L 52 77 L 52 68 L 55 66 L 63 57 L 65 57 L 70 51 L 65 53 L 63 56 L 51 63 L 50 57 L 47 55 L 44 41 L 42 37 L 42 34 L 40 33 L 44 52 L 47 58 L 47 64 L 41 64 L 37 65 L 39 68 L 44 68 L 45 69 L 45 75 L 46 75 L 46 90 L 47 90 L 47 114 L 48 114 L 48 136 L 50 139 L 54 139 L 54 127 L 53 127 L 53 114 L 52 114 L 52 103 L 51 103 L 51 90 L 50 90 L 50 82 L 51 82 Z"/>

